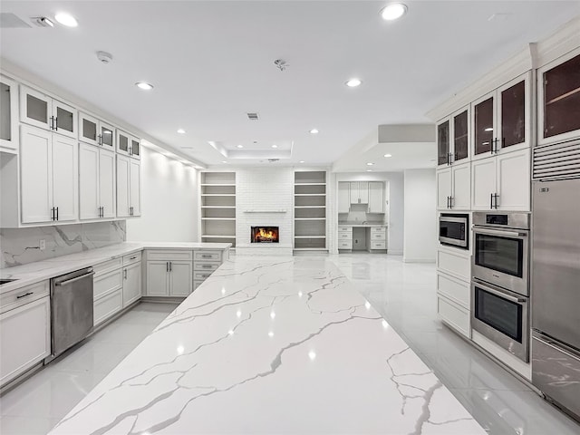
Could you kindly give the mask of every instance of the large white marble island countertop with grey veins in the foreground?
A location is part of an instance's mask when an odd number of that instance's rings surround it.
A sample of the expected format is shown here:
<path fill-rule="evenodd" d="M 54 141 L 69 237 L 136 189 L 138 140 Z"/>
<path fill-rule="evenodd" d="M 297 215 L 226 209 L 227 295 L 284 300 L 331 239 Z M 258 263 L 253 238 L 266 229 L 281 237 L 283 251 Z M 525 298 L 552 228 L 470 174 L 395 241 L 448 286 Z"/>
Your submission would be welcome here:
<path fill-rule="evenodd" d="M 50 433 L 486 432 L 331 260 L 237 256 Z"/>

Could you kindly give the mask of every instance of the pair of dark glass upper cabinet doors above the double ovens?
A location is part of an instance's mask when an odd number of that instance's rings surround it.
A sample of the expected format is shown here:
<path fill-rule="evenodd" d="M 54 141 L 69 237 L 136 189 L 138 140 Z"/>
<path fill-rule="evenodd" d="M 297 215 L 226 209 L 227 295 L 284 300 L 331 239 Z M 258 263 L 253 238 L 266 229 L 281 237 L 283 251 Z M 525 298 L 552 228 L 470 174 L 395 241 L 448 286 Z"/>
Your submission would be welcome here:
<path fill-rule="evenodd" d="M 529 147 L 530 82 L 525 73 L 471 104 L 473 160 Z"/>

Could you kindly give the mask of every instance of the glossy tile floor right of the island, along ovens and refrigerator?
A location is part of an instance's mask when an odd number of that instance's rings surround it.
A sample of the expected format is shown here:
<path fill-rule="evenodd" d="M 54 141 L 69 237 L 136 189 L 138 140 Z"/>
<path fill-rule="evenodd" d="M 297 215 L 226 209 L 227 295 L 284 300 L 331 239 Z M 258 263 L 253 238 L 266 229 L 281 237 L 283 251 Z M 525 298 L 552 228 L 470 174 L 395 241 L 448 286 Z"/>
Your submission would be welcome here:
<path fill-rule="evenodd" d="M 580 434 L 574 420 L 441 324 L 435 265 L 386 255 L 331 258 L 489 434 Z"/>

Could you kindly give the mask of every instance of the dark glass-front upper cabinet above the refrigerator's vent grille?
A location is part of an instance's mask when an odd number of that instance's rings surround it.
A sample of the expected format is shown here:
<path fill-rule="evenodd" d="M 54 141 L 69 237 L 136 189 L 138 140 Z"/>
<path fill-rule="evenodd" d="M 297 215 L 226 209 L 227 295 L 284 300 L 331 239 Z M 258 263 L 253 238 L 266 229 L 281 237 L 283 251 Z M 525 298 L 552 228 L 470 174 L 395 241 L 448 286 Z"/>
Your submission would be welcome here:
<path fill-rule="evenodd" d="M 580 137 L 580 50 L 537 70 L 538 143 Z"/>

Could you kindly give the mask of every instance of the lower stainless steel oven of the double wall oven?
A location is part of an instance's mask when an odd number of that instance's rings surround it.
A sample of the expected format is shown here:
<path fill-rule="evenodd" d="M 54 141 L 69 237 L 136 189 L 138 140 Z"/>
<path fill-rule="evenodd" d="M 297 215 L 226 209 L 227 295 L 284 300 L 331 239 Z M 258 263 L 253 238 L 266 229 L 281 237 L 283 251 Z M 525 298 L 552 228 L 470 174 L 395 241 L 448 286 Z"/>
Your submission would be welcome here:
<path fill-rule="evenodd" d="M 528 298 L 495 285 L 471 284 L 471 327 L 494 343 L 529 361 Z"/>

